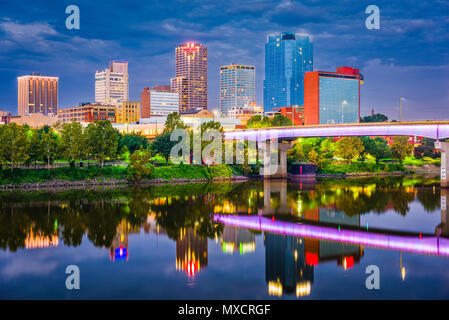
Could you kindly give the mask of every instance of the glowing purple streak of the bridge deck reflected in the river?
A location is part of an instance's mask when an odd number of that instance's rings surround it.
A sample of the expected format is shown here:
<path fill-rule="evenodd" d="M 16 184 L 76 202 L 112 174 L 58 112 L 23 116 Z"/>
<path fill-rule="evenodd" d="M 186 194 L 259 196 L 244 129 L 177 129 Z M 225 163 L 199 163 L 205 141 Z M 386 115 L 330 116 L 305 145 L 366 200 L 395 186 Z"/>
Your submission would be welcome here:
<path fill-rule="evenodd" d="M 337 242 L 347 242 L 390 250 L 409 251 L 423 254 L 449 256 L 449 239 L 437 237 L 406 237 L 386 234 L 340 230 L 314 225 L 272 221 L 261 216 L 214 215 L 214 220 L 225 225 L 233 225 L 261 231 L 268 231 L 297 237 L 315 238 Z"/>

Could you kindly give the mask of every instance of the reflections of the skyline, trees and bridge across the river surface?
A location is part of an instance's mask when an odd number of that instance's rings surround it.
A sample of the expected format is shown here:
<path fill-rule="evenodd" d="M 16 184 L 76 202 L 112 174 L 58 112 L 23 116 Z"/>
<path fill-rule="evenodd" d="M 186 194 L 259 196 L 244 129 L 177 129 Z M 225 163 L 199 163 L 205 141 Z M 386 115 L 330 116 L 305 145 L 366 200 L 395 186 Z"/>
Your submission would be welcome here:
<path fill-rule="evenodd" d="M 209 252 L 215 246 L 224 259 L 262 251 L 266 293 L 303 297 L 320 281 L 317 268 L 355 268 L 367 247 L 398 251 L 402 280 L 403 252 L 449 255 L 447 196 L 437 181 L 406 178 L 5 192 L 0 247 L 14 259 L 21 249 L 77 248 L 87 239 L 112 262 L 127 264 L 139 250 L 133 237 L 168 237 L 174 268 L 187 279 L 217 268 Z M 422 228 L 427 222 L 409 215 L 417 203 L 429 214 L 440 211 L 441 221 Z M 404 222 L 389 223 L 392 214 Z"/>

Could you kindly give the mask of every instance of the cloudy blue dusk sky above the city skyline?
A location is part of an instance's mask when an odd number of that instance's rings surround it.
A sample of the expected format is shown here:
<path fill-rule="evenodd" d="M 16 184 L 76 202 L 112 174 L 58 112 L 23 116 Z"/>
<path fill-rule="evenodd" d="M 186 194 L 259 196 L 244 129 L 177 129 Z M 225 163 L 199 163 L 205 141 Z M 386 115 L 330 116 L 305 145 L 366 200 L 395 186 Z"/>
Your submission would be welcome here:
<path fill-rule="evenodd" d="M 81 28 L 65 27 L 65 8 L 80 8 Z M 380 30 L 368 30 L 368 5 Z M 94 100 L 94 73 L 110 60 L 129 62 L 130 99 L 146 86 L 169 84 L 175 47 L 208 47 L 209 109 L 219 106 L 219 67 L 256 67 L 263 102 L 264 44 L 269 33 L 308 33 L 314 70 L 359 68 L 361 115 L 374 108 L 404 120 L 449 120 L 447 0 L 0 0 L 0 110 L 17 113 L 17 76 L 59 77 L 59 108 Z"/>

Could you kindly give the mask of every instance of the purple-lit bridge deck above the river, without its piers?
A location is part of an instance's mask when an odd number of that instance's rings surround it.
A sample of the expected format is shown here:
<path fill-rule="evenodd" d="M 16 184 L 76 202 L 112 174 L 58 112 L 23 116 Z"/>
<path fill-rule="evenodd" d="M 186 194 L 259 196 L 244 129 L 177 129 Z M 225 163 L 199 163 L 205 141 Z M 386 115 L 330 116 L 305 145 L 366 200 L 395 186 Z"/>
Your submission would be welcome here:
<path fill-rule="evenodd" d="M 355 123 L 244 129 L 225 132 L 225 139 L 227 140 L 263 141 L 270 138 L 347 136 L 420 136 L 445 139 L 449 138 L 449 121 Z"/>

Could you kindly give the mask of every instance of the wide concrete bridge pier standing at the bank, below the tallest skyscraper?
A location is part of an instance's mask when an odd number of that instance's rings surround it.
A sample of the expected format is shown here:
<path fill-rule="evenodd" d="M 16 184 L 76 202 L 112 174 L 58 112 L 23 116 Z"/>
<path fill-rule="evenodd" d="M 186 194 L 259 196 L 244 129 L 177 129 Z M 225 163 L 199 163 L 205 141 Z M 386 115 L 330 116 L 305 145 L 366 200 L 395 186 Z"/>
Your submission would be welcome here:
<path fill-rule="evenodd" d="M 291 142 L 273 142 L 268 140 L 262 143 L 264 153 L 262 174 L 265 179 L 287 179 L 287 151 L 291 147 Z"/>

